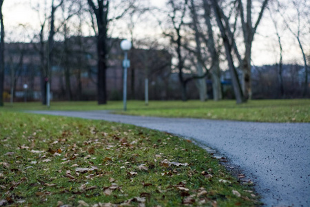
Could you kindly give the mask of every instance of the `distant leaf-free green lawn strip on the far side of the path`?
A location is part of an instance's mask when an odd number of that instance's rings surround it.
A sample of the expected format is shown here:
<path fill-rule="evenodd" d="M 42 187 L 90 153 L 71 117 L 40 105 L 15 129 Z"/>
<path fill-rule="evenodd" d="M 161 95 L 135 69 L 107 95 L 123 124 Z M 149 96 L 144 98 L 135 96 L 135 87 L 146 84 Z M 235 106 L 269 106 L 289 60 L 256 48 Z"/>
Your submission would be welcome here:
<path fill-rule="evenodd" d="M 155 117 L 193 117 L 238 121 L 310 122 L 310 99 L 252 100 L 236 104 L 225 101 L 128 101 L 123 112 L 122 101 L 108 101 L 99 106 L 95 101 L 52 102 L 49 110 L 113 110 L 114 113 Z M 9 103 L 0 110 L 47 110 L 41 103 Z"/>

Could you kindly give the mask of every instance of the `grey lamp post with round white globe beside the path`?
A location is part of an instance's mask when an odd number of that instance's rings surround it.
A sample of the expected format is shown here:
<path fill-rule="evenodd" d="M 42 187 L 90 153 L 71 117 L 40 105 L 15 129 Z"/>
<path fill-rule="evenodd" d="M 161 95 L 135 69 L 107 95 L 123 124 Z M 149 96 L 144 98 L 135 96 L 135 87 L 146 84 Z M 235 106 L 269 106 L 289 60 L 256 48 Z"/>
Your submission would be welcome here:
<path fill-rule="evenodd" d="M 121 41 L 121 49 L 124 50 L 124 60 L 123 60 L 123 68 L 124 68 L 124 80 L 123 80 L 123 104 L 124 110 L 127 109 L 127 68 L 130 67 L 130 60 L 127 59 L 127 51 L 132 48 L 132 43 L 127 39 Z"/>

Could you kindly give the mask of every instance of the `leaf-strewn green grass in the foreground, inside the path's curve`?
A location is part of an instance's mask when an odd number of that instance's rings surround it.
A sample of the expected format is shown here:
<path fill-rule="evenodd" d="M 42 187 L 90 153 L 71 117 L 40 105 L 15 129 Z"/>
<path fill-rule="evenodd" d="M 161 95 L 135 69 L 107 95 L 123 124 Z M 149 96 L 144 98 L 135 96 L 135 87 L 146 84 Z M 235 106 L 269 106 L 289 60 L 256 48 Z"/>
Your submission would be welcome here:
<path fill-rule="evenodd" d="M 66 107 L 76 109 L 59 106 Z M 5 110 L 0 111 L 0 129 L 0 203 L 259 204 L 251 188 L 229 175 L 217 159 L 191 141 L 164 132 Z"/>

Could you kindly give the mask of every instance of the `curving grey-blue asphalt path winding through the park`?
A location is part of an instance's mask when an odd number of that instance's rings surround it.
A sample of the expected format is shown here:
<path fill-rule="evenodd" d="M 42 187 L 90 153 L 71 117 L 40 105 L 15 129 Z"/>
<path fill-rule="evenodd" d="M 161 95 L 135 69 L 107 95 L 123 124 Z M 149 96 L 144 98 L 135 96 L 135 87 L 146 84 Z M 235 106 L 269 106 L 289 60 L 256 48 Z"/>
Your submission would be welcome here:
<path fill-rule="evenodd" d="M 134 124 L 192 138 L 256 184 L 266 206 L 310 206 L 310 124 L 112 115 L 107 111 L 32 111 Z"/>

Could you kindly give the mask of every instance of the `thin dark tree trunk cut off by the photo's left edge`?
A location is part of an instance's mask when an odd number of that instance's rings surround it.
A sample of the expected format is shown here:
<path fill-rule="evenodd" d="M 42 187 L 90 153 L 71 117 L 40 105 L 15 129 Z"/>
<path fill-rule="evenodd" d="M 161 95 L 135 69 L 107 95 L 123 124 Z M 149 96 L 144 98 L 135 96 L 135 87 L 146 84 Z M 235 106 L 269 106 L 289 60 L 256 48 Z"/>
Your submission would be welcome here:
<path fill-rule="evenodd" d="M 3 89 L 4 89 L 4 23 L 2 14 L 2 5 L 4 0 L 0 0 L 0 106 L 3 106 Z"/>

